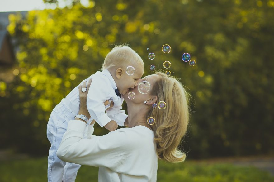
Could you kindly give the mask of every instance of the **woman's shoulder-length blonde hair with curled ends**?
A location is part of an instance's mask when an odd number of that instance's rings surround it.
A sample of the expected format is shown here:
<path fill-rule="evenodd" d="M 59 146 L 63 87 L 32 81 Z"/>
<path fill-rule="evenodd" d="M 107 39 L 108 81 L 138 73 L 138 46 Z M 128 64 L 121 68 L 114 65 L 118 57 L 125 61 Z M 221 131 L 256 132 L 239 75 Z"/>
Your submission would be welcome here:
<path fill-rule="evenodd" d="M 160 77 L 153 85 L 151 95 L 158 97 L 157 103 L 164 101 L 167 104 L 163 110 L 151 107 L 146 115 L 146 118 L 155 118 L 151 128 L 154 131 L 158 158 L 168 162 L 182 162 L 186 154 L 179 150 L 179 145 L 189 122 L 190 95 L 175 77 L 162 72 L 155 74 Z"/>

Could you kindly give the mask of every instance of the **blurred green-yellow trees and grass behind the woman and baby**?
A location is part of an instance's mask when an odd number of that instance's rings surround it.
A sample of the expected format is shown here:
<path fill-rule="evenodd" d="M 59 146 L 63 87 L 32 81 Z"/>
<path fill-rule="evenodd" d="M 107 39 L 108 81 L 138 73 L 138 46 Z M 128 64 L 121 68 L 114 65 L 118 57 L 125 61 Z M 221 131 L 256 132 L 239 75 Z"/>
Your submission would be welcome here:
<path fill-rule="evenodd" d="M 160 162 L 158 181 L 274 180 L 249 166 L 203 163 L 248 156 L 273 162 L 273 0 L 69 0 L 62 8 L 56 0 L 44 2 L 53 8 L 9 14 L 8 26 L 0 26 L 14 55 L 14 61 L 0 65 L 3 181 L 17 181 L 16 167 L 26 170 L 18 173 L 21 181 L 46 180 L 46 125 L 52 109 L 122 43 L 142 57 L 144 76 L 154 73 L 151 64 L 169 70 L 192 96 L 182 140 L 189 162 Z M 162 52 L 164 44 L 171 46 L 170 53 Z M 195 66 L 182 61 L 185 52 Z M 169 69 L 163 67 L 166 60 Z M 106 133 L 96 126 L 96 135 Z M 5 157 L 16 154 L 28 157 Z M 269 165 L 265 168 L 274 169 Z M 97 169 L 92 170 L 93 177 L 87 177 L 91 168 L 81 167 L 77 180 L 97 181 Z"/>

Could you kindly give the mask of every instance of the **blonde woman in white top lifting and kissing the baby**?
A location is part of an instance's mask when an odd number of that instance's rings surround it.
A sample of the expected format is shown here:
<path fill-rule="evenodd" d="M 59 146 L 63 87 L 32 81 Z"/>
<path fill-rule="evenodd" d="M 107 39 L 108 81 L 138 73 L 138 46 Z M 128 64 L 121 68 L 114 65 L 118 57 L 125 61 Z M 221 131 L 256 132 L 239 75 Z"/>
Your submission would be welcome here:
<path fill-rule="evenodd" d="M 139 80 L 148 81 L 150 90 L 141 94 L 138 88 L 130 90 L 135 98 L 123 95 L 128 106 L 128 127 L 103 136 L 83 139 L 85 121 L 69 121 L 57 156 L 81 165 L 99 166 L 98 181 L 156 181 L 158 160 L 182 162 L 186 155 L 178 150 L 187 131 L 189 120 L 188 94 L 174 77 L 161 72 Z M 83 83 L 85 84 L 85 83 Z M 89 83 L 90 84 L 90 83 Z M 85 85 L 83 85 L 85 87 Z M 90 117 L 86 108 L 87 92 L 80 92 L 78 114 Z M 153 108 L 154 103 L 166 102 L 165 109 Z M 148 118 L 155 118 L 149 124 Z M 94 122 L 93 122 L 94 123 Z M 92 135 L 93 125 L 89 134 Z"/>

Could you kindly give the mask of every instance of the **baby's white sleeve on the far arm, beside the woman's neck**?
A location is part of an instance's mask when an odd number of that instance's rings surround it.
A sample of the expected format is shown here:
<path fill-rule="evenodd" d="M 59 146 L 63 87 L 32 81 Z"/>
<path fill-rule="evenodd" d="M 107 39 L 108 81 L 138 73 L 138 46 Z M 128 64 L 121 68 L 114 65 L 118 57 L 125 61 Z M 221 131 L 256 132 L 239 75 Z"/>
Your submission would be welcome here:
<path fill-rule="evenodd" d="M 116 121 L 119 126 L 125 126 L 125 119 L 128 115 L 126 115 L 125 111 L 121 109 L 122 106 L 113 106 L 111 109 L 106 110 L 106 115 Z"/>

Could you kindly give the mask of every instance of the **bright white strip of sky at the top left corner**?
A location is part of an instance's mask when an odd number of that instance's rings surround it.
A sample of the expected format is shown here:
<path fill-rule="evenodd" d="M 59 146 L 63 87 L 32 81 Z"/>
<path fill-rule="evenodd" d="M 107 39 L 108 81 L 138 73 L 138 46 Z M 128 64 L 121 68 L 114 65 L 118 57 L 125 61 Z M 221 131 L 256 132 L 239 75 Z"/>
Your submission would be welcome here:
<path fill-rule="evenodd" d="M 58 7 L 69 6 L 73 0 L 58 0 Z M 80 1 L 83 6 L 88 6 L 89 0 Z M 45 4 L 43 0 L 0 0 L 0 12 L 7 11 L 30 11 L 55 9 L 55 4 Z"/>

